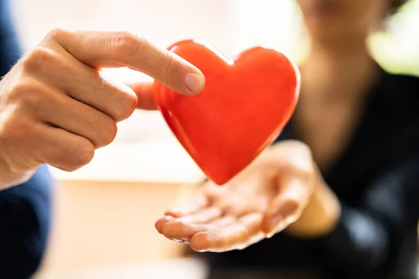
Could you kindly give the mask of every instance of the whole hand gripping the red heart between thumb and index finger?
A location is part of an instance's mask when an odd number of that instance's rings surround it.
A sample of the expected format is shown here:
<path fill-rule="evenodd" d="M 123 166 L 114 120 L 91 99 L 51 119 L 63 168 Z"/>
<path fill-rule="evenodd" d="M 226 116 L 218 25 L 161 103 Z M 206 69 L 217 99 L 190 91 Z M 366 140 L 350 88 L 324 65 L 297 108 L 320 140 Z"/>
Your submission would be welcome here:
<path fill-rule="evenodd" d="M 114 140 L 117 122 L 155 109 L 152 84 L 117 84 L 104 67 L 141 71 L 186 95 L 205 86 L 198 68 L 131 33 L 51 31 L 0 82 L 0 190 L 43 164 L 79 169 Z"/>

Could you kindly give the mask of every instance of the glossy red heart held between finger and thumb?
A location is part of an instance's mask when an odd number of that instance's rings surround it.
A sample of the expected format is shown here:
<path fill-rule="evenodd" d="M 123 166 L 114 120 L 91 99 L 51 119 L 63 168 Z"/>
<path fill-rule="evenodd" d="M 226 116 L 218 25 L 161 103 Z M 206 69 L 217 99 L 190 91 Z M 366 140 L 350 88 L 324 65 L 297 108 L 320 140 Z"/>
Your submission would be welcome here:
<path fill-rule="evenodd" d="M 207 178 L 222 185 L 281 133 L 297 104 L 300 71 L 288 56 L 264 47 L 234 60 L 200 40 L 182 40 L 168 50 L 203 72 L 205 89 L 182 96 L 154 82 L 156 105 Z"/>

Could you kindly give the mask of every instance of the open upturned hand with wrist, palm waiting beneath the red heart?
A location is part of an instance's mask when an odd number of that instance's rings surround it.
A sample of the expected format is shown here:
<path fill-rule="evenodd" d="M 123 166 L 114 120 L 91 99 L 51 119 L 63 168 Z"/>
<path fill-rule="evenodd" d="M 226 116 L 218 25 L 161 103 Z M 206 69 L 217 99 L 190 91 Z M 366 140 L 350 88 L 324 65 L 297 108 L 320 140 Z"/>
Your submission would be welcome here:
<path fill-rule="evenodd" d="M 168 239 L 197 251 L 247 248 L 287 228 L 298 236 L 330 232 L 339 202 L 300 142 L 275 144 L 225 186 L 207 183 L 196 199 L 156 222 Z"/>

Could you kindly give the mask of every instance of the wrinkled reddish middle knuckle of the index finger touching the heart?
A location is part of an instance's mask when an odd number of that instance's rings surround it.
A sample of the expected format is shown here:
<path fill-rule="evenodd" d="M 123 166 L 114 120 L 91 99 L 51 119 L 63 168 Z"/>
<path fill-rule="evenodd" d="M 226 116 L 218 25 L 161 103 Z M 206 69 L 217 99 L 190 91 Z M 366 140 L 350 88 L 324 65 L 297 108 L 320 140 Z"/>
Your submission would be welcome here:
<path fill-rule="evenodd" d="M 120 31 L 113 34 L 111 39 L 112 49 L 115 50 L 117 55 L 125 57 L 126 59 L 131 59 L 135 56 L 144 43 L 144 38 L 135 36 L 126 31 Z"/>

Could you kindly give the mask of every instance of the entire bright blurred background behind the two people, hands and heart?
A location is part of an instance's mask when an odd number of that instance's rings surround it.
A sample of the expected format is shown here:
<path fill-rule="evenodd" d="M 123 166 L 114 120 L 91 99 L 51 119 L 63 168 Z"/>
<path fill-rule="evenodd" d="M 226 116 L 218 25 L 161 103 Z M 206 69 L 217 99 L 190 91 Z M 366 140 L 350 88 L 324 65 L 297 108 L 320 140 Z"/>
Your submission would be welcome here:
<path fill-rule="evenodd" d="M 57 27 L 132 31 L 161 47 L 201 38 L 226 56 L 266 45 L 301 61 L 307 49 L 293 0 L 12 3 L 24 50 Z M 404 6 L 369 43 L 386 70 L 419 75 L 419 1 Z M 124 82 L 149 78 L 126 69 L 105 73 Z M 87 167 L 73 173 L 52 171 L 60 183 L 39 278 L 203 278 L 205 264 L 184 258 L 184 246 L 154 230 L 164 209 L 188 198 L 204 177 L 159 112 L 135 112 L 120 123 L 115 142 L 100 149 Z"/>

